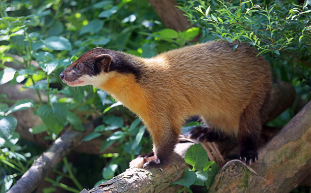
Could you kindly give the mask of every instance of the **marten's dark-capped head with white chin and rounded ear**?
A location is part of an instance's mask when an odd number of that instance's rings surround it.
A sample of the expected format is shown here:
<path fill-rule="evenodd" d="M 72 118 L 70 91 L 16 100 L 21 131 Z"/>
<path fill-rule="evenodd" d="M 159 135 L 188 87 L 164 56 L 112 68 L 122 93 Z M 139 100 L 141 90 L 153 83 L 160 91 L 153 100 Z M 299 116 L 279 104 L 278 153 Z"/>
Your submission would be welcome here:
<path fill-rule="evenodd" d="M 139 77 L 139 61 L 135 56 L 123 52 L 94 48 L 75 60 L 60 74 L 69 86 L 85 86 L 105 83 L 110 72 L 132 73 Z"/>

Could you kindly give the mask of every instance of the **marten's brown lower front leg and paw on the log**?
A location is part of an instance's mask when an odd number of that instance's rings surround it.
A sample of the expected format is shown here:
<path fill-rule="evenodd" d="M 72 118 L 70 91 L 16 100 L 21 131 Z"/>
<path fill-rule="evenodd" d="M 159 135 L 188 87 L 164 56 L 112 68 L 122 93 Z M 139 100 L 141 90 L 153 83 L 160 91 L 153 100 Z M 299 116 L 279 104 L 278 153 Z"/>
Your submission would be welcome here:
<path fill-rule="evenodd" d="M 179 128 L 178 128 L 179 130 Z M 153 151 L 139 155 L 129 164 L 134 168 L 160 168 L 168 165 L 175 145 L 178 141 L 178 135 L 172 128 L 166 128 L 165 131 L 154 131 L 150 129 L 153 139 Z"/>

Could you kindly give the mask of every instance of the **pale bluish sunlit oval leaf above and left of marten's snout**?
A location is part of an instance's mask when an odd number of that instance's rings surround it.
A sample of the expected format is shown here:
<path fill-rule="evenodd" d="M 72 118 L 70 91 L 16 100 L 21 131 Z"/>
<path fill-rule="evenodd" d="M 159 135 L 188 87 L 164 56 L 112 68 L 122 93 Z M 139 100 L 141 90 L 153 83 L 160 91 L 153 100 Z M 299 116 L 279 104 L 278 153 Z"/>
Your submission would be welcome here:
<path fill-rule="evenodd" d="M 71 50 L 71 43 L 67 38 L 60 36 L 50 36 L 43 40 L 45 46 L 52 50 Z"/>

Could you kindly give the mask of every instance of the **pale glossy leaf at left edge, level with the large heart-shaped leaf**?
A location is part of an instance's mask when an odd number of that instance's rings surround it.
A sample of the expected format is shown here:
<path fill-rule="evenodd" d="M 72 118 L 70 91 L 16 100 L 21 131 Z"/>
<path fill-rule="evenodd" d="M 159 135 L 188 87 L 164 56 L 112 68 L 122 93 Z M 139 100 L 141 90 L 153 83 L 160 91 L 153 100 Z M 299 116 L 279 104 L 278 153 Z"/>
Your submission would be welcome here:
<path fill-rule="evenodd" d="M 9 140 L 12 138 L 17 125 L 15 117 L 6 116 L 0 117 L 0 137 Z"/>

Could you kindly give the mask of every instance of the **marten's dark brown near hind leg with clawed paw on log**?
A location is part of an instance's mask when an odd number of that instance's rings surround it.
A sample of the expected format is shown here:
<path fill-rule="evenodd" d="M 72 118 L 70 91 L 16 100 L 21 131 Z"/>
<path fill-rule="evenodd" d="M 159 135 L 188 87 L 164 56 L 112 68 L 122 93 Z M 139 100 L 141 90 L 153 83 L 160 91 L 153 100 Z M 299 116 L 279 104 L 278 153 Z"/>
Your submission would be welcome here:
<path fill-rule="evenodd" d="M 258 159 L 258 138 L 262 130 L 260 107 L 258 106 L 258 103 L 252 101 L 240 116 L 238 131 L 239 156 L 248 165 L 255 163 Z"/>

